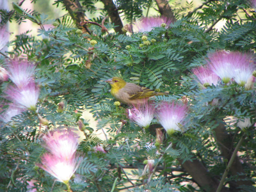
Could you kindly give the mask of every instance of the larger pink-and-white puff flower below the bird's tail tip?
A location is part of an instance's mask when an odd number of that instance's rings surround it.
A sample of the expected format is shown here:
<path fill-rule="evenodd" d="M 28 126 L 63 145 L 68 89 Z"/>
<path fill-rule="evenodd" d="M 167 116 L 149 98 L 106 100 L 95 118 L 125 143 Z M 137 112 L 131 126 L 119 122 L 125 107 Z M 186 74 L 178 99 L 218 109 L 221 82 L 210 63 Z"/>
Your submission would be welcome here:
<path fill-rule="evenodd" d="M 156 116 L 166 132 L 171 135 L 175 131 L 182 131 L 184 118 L 188 108 L 175 102 L 162 102 L 156 111 Z"/>

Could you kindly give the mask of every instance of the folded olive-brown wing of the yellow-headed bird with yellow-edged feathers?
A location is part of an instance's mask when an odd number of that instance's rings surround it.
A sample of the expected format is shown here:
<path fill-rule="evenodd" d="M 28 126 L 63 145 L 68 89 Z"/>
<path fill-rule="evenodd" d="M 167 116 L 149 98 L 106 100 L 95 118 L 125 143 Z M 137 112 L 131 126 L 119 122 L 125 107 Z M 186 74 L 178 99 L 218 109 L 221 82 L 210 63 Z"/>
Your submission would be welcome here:
<path fill-rule="evenodd" d="M 156 92 L 153 90 L 143 86 L 138 86 L 137 84 L 127 83 L 126 86 L 127 93 L 131 96 L 129 100 L 144 99 L 156 95 Z"/>

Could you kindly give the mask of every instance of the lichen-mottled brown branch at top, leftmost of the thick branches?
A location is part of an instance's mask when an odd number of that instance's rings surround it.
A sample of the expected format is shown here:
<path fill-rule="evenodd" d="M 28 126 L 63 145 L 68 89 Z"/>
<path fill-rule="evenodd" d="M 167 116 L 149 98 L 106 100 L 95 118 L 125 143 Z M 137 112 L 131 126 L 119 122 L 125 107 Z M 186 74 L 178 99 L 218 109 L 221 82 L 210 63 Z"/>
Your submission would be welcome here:
<path fill-rule="evenodd" d="M 76 23 L 77 28 L 81 29 L 83 33 L 89 33 L 90 31 L 86 28 L 86 26 L 81 26 L 80 22 L 84 20 L 88 20 L 88 18 L 85 16 L 82 6 L 79 3 L 78 0 L 72 1 L 72 0 L 63 0 L 63 3 L 65 4 L 66 9 L 68 10 L 68 13 Z"/>

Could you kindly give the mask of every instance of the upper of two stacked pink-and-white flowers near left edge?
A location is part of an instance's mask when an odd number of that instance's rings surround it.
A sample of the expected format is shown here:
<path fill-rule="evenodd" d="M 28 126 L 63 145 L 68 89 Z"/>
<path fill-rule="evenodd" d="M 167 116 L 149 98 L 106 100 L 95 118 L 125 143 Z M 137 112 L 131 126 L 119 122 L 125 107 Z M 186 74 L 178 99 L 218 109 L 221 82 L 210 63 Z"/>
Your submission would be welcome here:
<path fill-rule="evenodd" d="M 35 74 L 35 65 L 28 61 L 12 61 L 8 65 L 10 79 L 18 88 L 26 86 Z"/>

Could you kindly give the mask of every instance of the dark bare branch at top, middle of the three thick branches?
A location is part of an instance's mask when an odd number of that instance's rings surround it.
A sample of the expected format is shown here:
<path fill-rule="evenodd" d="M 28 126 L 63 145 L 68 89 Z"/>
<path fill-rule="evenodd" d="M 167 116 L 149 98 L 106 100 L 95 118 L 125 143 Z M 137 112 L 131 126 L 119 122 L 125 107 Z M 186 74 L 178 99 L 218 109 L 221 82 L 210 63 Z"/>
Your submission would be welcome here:
<path fill-rule="evenodd" d="M 120 15 L 118 13 L 118 10 L 115 6 L 115 4 L 113 3 L 112 0 L 102 0 L 102 3 L 104 3 L 105 6 L 105 10 L 108 12 L 108 15 L 111 19 L 111 22 L 115 23 L 115 25 L 117 25 L 115 29 L 116 33 L 124 33 L 122 31 L 122 28 L 124 28 L 122 20 L 120 19 Z"/>

